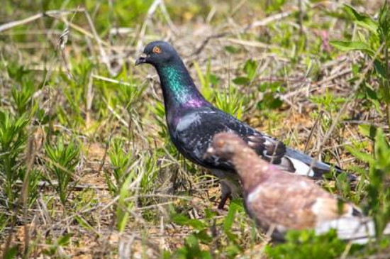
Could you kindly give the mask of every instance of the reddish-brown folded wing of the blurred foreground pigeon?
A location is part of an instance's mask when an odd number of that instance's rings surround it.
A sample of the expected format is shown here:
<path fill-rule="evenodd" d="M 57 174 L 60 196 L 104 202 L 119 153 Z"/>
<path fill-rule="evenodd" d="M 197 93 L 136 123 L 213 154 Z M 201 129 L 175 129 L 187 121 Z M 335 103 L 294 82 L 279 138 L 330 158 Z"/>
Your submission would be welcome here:
<path fill-rule="evenodd" d="M 261 226 L 285 229 L 313 228 L 319 220 L 336 219 L 350 211 L 313 182 L 296 175 L 274 172 L 247 193 L 245 204 Z"/>

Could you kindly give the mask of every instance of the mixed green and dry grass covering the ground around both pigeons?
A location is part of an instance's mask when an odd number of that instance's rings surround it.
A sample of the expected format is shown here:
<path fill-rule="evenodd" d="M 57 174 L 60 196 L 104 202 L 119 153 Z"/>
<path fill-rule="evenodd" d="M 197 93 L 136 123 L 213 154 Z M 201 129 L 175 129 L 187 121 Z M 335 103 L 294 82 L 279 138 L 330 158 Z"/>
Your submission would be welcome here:
<path fill-rule="evenodd" d="M 360 175 L 357 186 L 341 175 L 323 187 L 361 206 L 380 230 L 390 221 L 389 6 L 156 3 L 3 3 L 2 258 L 389 253 L 380 235 L 351 246 L 332 232 L 293 231 L 272 244 L 242 201 L 216 211 L 218 180 L 179 155 L 154 70 L 133 65 L 145 43 L 169 39 L 220 109 Z"/>

